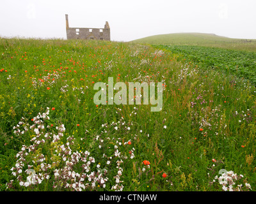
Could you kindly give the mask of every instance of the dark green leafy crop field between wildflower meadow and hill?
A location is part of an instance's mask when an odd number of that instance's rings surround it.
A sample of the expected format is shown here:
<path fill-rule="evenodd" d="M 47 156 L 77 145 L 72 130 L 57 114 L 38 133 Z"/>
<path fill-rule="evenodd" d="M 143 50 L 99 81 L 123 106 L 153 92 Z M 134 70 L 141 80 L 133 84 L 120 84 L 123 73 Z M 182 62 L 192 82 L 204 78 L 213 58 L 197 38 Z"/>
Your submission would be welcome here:
<path fill-rule="evenodd" d="M 256 84 L 256 52 L 199 46 L 160 46 L 202 67 L 226 71 Z"/>

